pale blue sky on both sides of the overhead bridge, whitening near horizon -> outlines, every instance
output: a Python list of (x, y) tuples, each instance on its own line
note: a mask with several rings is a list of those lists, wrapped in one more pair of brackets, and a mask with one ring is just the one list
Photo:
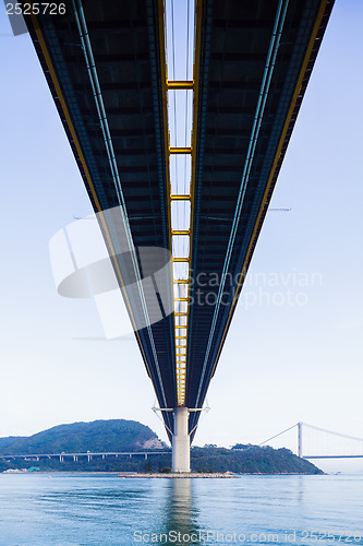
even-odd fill
[[(136, 343), (76, 340), (101, 335), (95, 306), (56, 293), (49, 239), (92, 210), (29, 37), (0, 9), (0, 436), (132, 418), (166, 439)], [(298, 420), (363, 437), (362, 21), (361, 0), (337, 0), (271, 204), (291, 212), (267, 215), (197, 444)]]

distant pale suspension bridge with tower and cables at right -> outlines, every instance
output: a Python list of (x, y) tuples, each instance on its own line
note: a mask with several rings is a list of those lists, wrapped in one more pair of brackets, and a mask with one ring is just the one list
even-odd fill
[(363, 438), (302, 422), (267, 438), (259, 446), (293, 430), (297, 432), (297, 453), (302, 459), (363, 459)]

